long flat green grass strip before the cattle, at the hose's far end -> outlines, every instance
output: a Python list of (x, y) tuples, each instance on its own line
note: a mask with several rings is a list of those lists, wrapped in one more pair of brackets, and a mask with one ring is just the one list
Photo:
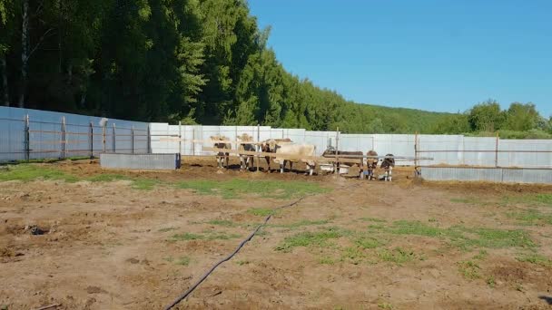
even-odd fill
[(179, 189), (192, 189), (202, 195), (219, 195), (224, 199), (236, 199), (249, 194), (263, 198), (291, 199), (330, 190), (314, 182), (248, 179), (188, 180), (179, 182), (176, 186)]

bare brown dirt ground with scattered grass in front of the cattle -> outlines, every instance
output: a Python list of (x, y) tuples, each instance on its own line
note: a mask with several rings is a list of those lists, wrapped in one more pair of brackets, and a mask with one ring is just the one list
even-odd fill
[[(113, 173), (89, 160), (46, 165), (83, 178)], [(0, 309), (163, 308), (231, 253), (266, 209), (299, 198), (170, 186), (232, 179), (327, 190), (274, 213), (176, 308), (552, 305), (550, 187), (431, 184), (408, 168), (383, 182), (264, 168), (218, 173), (215, 165), (186, 158), (178, 171), (116, 171), (159, 180), (153, 189), (126, 179), (0, 182)], [(34, 235), (34, 226), (42, 231)]]

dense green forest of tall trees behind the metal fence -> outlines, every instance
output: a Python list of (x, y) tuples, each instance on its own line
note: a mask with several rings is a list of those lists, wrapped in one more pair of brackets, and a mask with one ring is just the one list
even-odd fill
[[(286, 72), (244, 0), (0, 0), (0, 105), (135, 121), (551, 138), (531, 102), (439, 113)], [(475, 103), (475, 102), (474, 102)]]

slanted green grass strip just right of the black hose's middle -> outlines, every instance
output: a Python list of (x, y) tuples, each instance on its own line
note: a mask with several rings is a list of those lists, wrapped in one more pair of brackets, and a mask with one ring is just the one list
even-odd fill
[(315, 232), (303, 231), (291, 237), (285, 237), (276, 250), (291, 252), (294, 247), (330, 247), (331, 239), (345, 235), (346, 233), (338, 228), (326, 228)]

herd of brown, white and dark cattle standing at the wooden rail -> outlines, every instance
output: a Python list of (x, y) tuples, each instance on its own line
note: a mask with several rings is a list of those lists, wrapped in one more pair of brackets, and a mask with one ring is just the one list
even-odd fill
[[(230, 139), (224, 136), (212, 136), (211, 140), (214, 142), (214, 148), (223, 150), (232, 150), (232, 142)], [(238, 155), (240, 156), (240, 169), (249, 170), (253, 168), (253, 159), (255, 155), (251, 153), (241, 153), (242, 151), (256, 151), (256, 145), (261, 146), (263, 153), (274, 153), (274, 156), (265, 156), (265, 160), (268, 166), (268, 171), (271, 171), (271, 158), (277, 164), (280, 164), (280, 171), (283, 173), (287, 163), (290, 163), (290, 170), (293, 169), (293, 163), (303, 162), (306, 165), (306, 173), (312, 175), (316, 168), (316, 161), (313, 160), (316, 157), (316, 146), (312, 144), (298, 144), (286, 139), (269, 139), (263, 140), (260, 143), (253, 141), (252, 137), (244, 133), (237, 138), (238, 140)], [(228, 141), (228, 142), (227, 142)], [(248, 143), (250, 142), (250, 143)], [(281, 154), (281, 157), (278, 156)], [(384, 174), (380, 179), (391, 180), (391, 173), (395, 167), (395, 160), (393, 154), (386, 154), (385, 157), (379, 160), (378, 153), (374, 150), (369, 150), (366, 156), (363, 156), (362, 151), (342, 151), (334, 150), (331, 147), (322, 153), (323, 158), (337, 160), (335, 162), (335, 169), (339, 170), (340, 165), (348, 167), (356, 166), (360, 170), (360, 179), (376, 179), (374, 171), (378, 168), (378, 163), (381, 162), (380, 168), (384, 171)], [(219, 168), (229, 167), (230, 153), (225, 151), (219, 151), (216, 155)], [(366, 160), (364, 160), (366, 158)]]

